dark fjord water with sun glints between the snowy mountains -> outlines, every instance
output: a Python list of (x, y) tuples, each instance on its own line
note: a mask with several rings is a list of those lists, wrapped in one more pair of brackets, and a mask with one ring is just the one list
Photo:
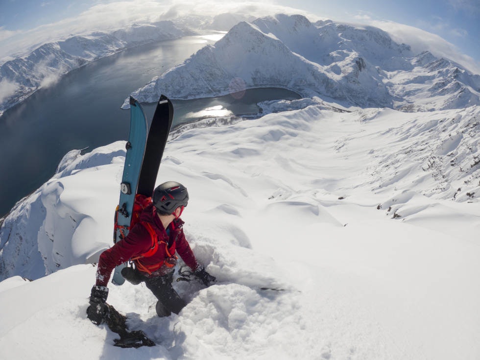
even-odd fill
[[(0, 117), (0, 216), (47, 181), (68, 151), (126, 140), (130, 112), (120, 105), (130, 92), (218, 38), (190, 36), (124, 50), (70, 72), (6, 111)], [(241, 99), (173, 100), (173, 126), (205, 115), (255, 113), (258, 101), (281, 98), (298, 96), (253, 89)], [(143, 108), (150, 120), (155, 104)]]

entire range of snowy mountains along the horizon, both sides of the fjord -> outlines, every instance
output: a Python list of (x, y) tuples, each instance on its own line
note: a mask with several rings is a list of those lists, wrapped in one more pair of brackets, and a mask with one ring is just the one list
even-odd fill
[(140, 101), (154, 102), (160, 94), (186, 99), (282, 87), (346, 107), (410, 112), (480, 103), (480, 75), (428, 51), (413, 53), (379, 28), (311, 23), (301, 15), (276, 15), (251, 23), (241, 19), (224, 14), (202, 24), (189, 18), (132, 25), (42, 45), (1, 65), (0, 116), (37, 89), (88, 62), (125, 48), (192, 35), (189, 24), (204, 29), (236, 25), (215, 46), (202, 48), (135, 91)]

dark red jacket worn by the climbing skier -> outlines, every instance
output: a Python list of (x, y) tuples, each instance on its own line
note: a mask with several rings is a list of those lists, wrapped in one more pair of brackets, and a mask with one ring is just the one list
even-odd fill
[[(149, 205), (140, 216), (140, 221), (132, 228), (126, 238), (118, 241), (100, 255), (98, 268), (96, 270), (96, 285), (107, 286), (115, 266), (125, 263), (129, 259), (141, 256), (150, 250), (152, 247), (152, 237), (142, 222), (151, 225), (151, 228), (157, 235), (159, 244), (157, 251), (152, 256), (137, 260), (141, 265), (147, 268), (150, 266), (155, 267), (155, 265), (159, 267), (159, 265), (164, 264), (165, 261), (170, 258), (168, 253), (174, 256), (175, 251), (177, 251), (185, 264), (193, 271), (196, 270), (198, 263), (187, 239), (185, 239), (182, 229), (184, 222), (181, 219), (173, 220), (168, 225), (170, 235), (167, 235), (167, 231), (156, 215), (153, 205)], [(163, 242), (160, 243), (161, 241)], [(141, 267), (137, 266), (137, 268), (141, 270)], [(147, 274), (145, 273), (145, 275)]]

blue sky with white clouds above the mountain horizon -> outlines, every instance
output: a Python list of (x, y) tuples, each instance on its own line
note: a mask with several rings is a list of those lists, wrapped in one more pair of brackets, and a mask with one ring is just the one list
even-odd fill
[[(212, 1), (204, 0), (202, 3)], [(409, 25), (436, 34), (455, 45), (456, 48), (451, 47), (446, 52), (466, 54), (471, 57), (466, 61), (473, 59), (476, 72), (480, 69), (480, 0), (269, 0), (220, 3), (221, 6), (210, 8), (222, 12), (229, 8), (238, 9), (239, 6), (253, 9), (257, 6), (265, 11), (268, 8), (281, 11), (285, 6), (303, 10), (306, 15), (310, 13), (318, 18), (373, 24), (387, 31), (397, 31), (398, 34), (405, 34), (408, 29), (401, 28), (399, 24)], [(19, 45), (27, 40), (31, 44), (41, 42), (42, 31), (47, 35), (60, 28), (73, 33), (85, 30), (88, 26), (94, 30), (101, 23), (113, 23), (124, 17), (131, 20), (136, 13), (139, 17), (148, 16), (148, 13), (158, 16), (174, 6), (175, 11), (181, 11), (179, 9), (192, 10), (199, 5), (198, 1), (193, 0), (0, 0), (0, 47), (4, 45), (7, 49), (6, 40), (9, 39), (12, 40), (11, 44), (15, 40)], [(79, 14), (83, 16), (79, 17)], [(415, 42), (426, 36), (429, 38), (425, 33), (410, 31), (407, 38)], [(432, 38), (432, 42), (435, 40)], [(2, 44), (2, 41), (5, 43)], [(442, 46), (448, 47), (445, 44)], [(0, 53), (0, 58), (4, 55)]]

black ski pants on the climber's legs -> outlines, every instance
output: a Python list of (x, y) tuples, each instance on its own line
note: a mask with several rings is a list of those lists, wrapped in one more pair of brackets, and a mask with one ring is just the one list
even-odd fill
[(178, 314), (187, 305), (172, 286), (173, 271), (164, 276), (145, 278), (144, 281), (146, 287), (158, 299), (156, 306), (158, 316), (169, 316), (172, 312)]

